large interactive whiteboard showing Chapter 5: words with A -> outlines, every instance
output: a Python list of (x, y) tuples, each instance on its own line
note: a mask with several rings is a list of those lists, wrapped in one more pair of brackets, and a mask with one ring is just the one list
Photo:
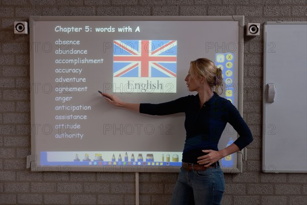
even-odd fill
[[(190, 61), (223, 69), (222, 96), (242, 113), (243, 16), (32, 16), (32, 171), (178, 172), (184, 113), (150, 116), (112, 107), (98, 90), (130, 103), (189, 94)], [(219, 149), (236, 132), (227, 125)], [(221, 160), (242, 171), (242, 156)]]

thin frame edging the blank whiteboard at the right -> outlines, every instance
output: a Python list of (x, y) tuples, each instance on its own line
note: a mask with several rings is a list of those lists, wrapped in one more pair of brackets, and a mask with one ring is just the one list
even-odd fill
[[(263, 86), (262, 86), (262, 124), (264, 127), (262, 128), (262, 172), (264, 173), (307, 173), (307, 170), (299, 171), (299, 170), (280, 170), (276, 169), (274, 165), (266, 165), (266, 104), (267, 103), (267, 91), (266, 91), (266, 84), (267, 82), (267, 75), (266, 71), (268, 69), (267, 65), (267, 52), (268, 52), (268, 42), (267, 42), (267, 25), (306, 25), (307, 22), (266, 22), (264, 24), (264, 71), (263, 71)], [(287, 81), (289, 83), (289, 81)], [(307, 147), (306, 147), (307, 149)], [(287, 152), (287, 150), (286, 150)], [(306, 156), (307, 157), (307, 156)], [(301, 160), (301, 159), (300, 159)]]

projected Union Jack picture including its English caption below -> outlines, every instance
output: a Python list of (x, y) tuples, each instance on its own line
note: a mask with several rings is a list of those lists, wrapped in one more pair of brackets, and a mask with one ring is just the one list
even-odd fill
[(176, 93), (177, 40), (113, 43), (114, 93)]

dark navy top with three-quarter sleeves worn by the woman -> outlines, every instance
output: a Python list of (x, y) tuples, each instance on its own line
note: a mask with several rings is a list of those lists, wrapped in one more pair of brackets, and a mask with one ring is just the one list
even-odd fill
[(185, 113), (186, 140), (182, 161), (197, 163), (198, 157), (203, 156), (202, 150), (217, 149), (218, 140), (227, 122), (237, 131), (238, 137), (234, 144), (240, 150), (253, 141), (252, 133), (246, 122), (232, 103), (218, 96), (215, 92), (202, 108), (199, 95), (188, 95), (161, 104), (140, 104), (140, 113), (150, 115), (168, 115)]

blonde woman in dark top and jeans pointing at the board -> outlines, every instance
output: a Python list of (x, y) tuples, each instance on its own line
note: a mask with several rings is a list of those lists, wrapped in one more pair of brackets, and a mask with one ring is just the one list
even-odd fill
[[(161, 104), (131, 104), (115, 95), (102, 95), (114, 106), (140, 113), (168, 115), (184, 112), (186, 140), (182, 167), (170, 203), (221, 204), (225, 180), (218, 160), (242, 150), (253, 137), (237, 109), (217, 94), (218, 87), (223, 84), (222, 70), (211, 60), (199, 58), (191, 61), (185, 81), (188, 90), (198, 94)], [(240, 137), (227, 148), (218, 150), (218, 141), (227, 122)]]

